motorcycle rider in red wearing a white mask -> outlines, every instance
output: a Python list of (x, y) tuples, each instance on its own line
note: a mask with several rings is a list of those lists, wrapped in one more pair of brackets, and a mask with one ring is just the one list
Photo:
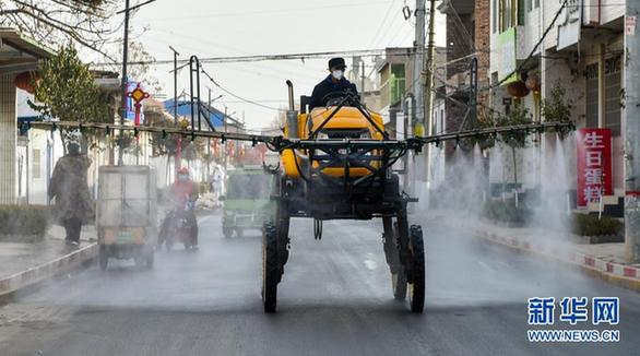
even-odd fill
[[(173, 203), (175, 205), (175, 214), (167, 215), (165, 222), (163, 222), (163, 228), (161, 230), (166, 230), (164, 227), (168, 223), (169, 218), (183, 214), (182, 216), (187, 218), (187, 224), (189, 226), (189, 236), (191, 236), (193, 241), (193, 249), (198, 249), (198, 221), (195, 219), (194, 212), (194, 204), (197, 200), (198, 186), (193, 180), (191, 180), (189, 168), (182, 167), (178, 170), (178, 179), (173, 187)], [(162, 246), (166, 239), (166, 236), (163, 235), (164, 234), (161, 233), (158, 246)]]

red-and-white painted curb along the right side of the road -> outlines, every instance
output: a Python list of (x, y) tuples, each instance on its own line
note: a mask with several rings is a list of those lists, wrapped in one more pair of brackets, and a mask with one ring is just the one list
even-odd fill
[(640, 292), (640, 269), (638, 268), (609, 262), (591, 254), (576, 251), (562, 251), (548, 245), (535, 246), (534, 249), (530, 241), (499, 236), (485, 230), (476, 230), (475, 236), (521, 252), (579, 266), (593, 277), (619, 285), (627, 289)]

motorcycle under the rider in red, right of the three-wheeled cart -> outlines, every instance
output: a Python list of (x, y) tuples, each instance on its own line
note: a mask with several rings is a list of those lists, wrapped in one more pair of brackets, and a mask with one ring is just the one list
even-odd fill
[(158, 249), (164, 244), (167, 250), (171, 250), (177, 242), (181, 242), (187, 250), (198, 248), (193, 209), (194, 203), (188, 202), (183, 209), (174, 209), (167, 213), (159, 228)]

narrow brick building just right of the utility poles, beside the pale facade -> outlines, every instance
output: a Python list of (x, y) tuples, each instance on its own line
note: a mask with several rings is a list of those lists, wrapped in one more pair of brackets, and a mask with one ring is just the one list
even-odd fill
[[(434, 73), (436, 134), (470, 130), (475, 126), (477, 111), (489, 103), (488, 92), (483, 90), (488, 85), (490, 69), (489, 5), (489, 0), (446, 0), (438, 5), (438, 11), (447, 16), (447, 47), (442, 49), (442, 64), (436, 66)], [(472, 67), (476, 73), (473, 79)], [(472, 96), (478, 103), (475, 111), (471, 110)], [(446, 142), (432, 149), (429, 180), (435, 189), (459, 178), (454, 167), (457, 146), (457, 142)], [(471, 153), (471, 147), (463, 149)]]

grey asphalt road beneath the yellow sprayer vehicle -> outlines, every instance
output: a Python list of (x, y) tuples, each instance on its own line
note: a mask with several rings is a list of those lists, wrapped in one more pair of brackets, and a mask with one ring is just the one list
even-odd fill
[[(278, 312), (264, 315), (259, 233), (225, 239), (220, 216), (208, 216), (198, 252), (161, 252), (152, 271), (94, 266), (0, 308), (0, 355), (640, 353), (638, 294), (484, 245), (438, 218), (422, 223), (424, 315), (392, 298), (380, 222), (328, 222), (316, 241), (310, 221), (294, 221)], [(530, 343), (526, 299), (536, 296), (620, 297), (621, 342)]]

